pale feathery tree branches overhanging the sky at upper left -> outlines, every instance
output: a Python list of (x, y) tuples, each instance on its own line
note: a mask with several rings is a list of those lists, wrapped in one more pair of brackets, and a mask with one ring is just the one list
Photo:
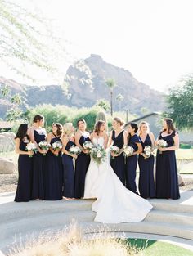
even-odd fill
[(38, 12), (25, 2), (0, 0), (0, 61), (30, 80), (35, 80), (36, 70), (57, 78), (59, 70), (64, 70), (66, 42), (56, 36), (50, 20)]

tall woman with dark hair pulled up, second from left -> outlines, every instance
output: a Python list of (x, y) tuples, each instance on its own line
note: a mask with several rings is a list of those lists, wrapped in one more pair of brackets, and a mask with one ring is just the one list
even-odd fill
[(32, 199), (43, 200), (44, 199), (44, 187), (43, 187), (43, 168), (45, 162), (45, 156), (47, 150), (41, 150), (38, 146), (40, 141), (44, 141), (47, 137), (47, 132), (43, 128), (44, 117), (43, 115), (35, 115), (33, 120), (34, 125), (29, 130), (29, 138), (35, 146), (38, 148), (38, 152), (33, 157), (33, 185), (32, 185)]

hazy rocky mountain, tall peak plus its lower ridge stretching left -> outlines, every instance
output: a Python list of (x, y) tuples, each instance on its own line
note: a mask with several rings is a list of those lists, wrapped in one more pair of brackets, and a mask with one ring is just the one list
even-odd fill
[[(85, 60), (79, 60), (70, 65), (65, 74), (65, 83), (68, 83), (66, 96), (61, 85), (29, 86), (16, 83), (11, 79), (0, 77), (0, 85), (7, 84), (11, 93), (24, 94), (29, 106), (43, 103), (52, 105), (64, 104), (67, 106), (93, 106), (101, 98), (110, 100), (109, 88), (106, 79), (114, 79), (114, 110), (119, 110), (120, 104), (116, 100), (119, 93), (123, 95), (121, 109), (140, 114), (141, 108), (150, 111), (164, 110), (164, 94), (151, 89), (145, 83), (135, 79), (131, 72), (105, 62), (101, 56), (92, 54)], [(5, 114), (5, 100), (0, 97), (0, 117)]]

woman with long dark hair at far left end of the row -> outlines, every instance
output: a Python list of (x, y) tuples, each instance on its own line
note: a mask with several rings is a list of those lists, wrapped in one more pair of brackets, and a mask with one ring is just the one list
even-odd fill
[(32, 186), (32, 158), (33, 151), (27, 151), (26, 146), (29, 143), (29, 136), (27, 134), (28, 124), (20, 124), (16, 133), (16, 153), (18, 158), (18, 184), (16, 189), (16, 202), (28, 202), (31, 200), (31, 186)]

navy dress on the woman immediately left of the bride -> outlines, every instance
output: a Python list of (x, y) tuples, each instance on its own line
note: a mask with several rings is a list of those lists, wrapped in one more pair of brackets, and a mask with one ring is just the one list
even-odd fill
[[(89, 137), (84, 137), (83, 135), (79, 139), (79, 144), (83, 146), (85, 141), (90, 141)], [(88, 166), (90, 164), (90, 156), (80, 153), (78, 158), (76, 159), (75, 164), (75, 185), (74, 185), (74, 197), (81, 198), (84, 194), (84, 183), (85, 177), (88, 170)]]

